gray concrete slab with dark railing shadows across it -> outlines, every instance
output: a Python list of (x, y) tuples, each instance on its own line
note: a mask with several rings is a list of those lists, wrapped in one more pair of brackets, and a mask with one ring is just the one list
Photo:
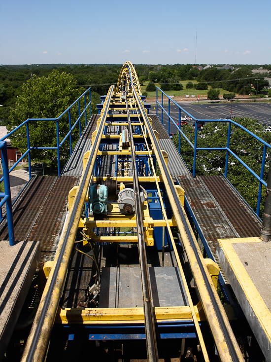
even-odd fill
[(0, 241), (0, 361), (17, 323), (40, 259), (39, 242)]

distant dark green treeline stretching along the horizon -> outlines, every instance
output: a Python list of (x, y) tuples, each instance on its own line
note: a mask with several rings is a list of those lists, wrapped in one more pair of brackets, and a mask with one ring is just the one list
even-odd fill
[[(205, 65), (201, 65), (204, 67)], [(251, 84), (258, 87), (258, 92), (264, 88), (267, 81), (265, 76), (271, 77), (271, 65), (262, 65), (266, 74), (253, 74), (252, 69), (259, 65), (233, 65), (235, 69), (217, 69), (215, 66), (200, 70), (192, 64), (175, 65), (136, 65), (135, 70), (139, 82), (149, 81), (154, 86), (158, 83), (164, 91), (180, 90), (183, 88), (180, 81), (189, 80), (190, 87), (196, 89), (222, 88), (229, 92), (249, 94), (254, 92)], [(40, 65), (14, 65), (0, 66), (0, 120), (2, 125), (8, 124), (10, 110), (14, 108), (16, 98), (22, 92), (22, 85), (28, 79), (36, 76), (48, 76), (54, 69), (59, 72), (72, 74), (76, 86), (83, 89), (91, 86), (92, 101), (95, 105), (100, 102), (100, 96), (107, 93), (111, 84), (116, 84), (122, 68), (121, 64), (113, 65), (66, 65), (66, 64), (40, 64)], [(258, 79), (257, 79), (258, 78)], [(196, 83), (193, 83), (196, 81)], [(152, 84), (153, 83), (153, 84)], [(191, 86), (192, 84), (192, 86)], [(150, 87), (151, 87), (150, 85)], [(150, 90), (151, 91), (151, 90)]]

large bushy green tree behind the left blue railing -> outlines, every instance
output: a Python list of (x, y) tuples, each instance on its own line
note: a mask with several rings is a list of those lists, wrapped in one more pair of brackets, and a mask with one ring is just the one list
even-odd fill
[[(23, 85), (22, 94), (17, 98), (15, 108), (10, 114), (10, 131), (20, 125), (28, 118), (56, 118), (67, 109), (82, 93), (75, 88), (75, 80), (71, 74), (59, 73), (54, 70), (47, 77), (37, 77), (29, 79)], [(83, 109), (83, 101), (81, 105)], [(74, 123), (78, 117), (78, 109), (71, 110), (71, 119)], [(34, 147), (55, 147), (57, 145), (57, 132), (55, 121), (31, 121), (29, 123), (31, 145)], [(68, 114), (59, 121), (59, 134), (62, 140), (68, 133)], [(78, 131), (78, 128), (77, 128)], [(73, 134), (76, 134), (74, 129)], [(27, 150), (26, 126), (21, 127), (11, 137), (14, 147), (24, 153)], [(74, 143), (76, 142), (73, 137)], [(68, 157), (68, 146), (61, 150), (62, 161)], [(48, 165), (56, 165), (56, 150), (33, 150), (31, 152), (33, 160), (46, 162)]]

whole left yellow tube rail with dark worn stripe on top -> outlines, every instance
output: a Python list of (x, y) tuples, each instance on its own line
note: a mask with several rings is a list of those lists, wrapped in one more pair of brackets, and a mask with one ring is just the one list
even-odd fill
[(102, 131), (108, 114), (109, 103), (113, 90), (114, 86), (111, 86), (107, 94), (107, 102), (105, 102), (105, 107), (102, 109), (103, 114), (99, 130), (88, 157), (87, 165), (80, 179), (74, 202), (68, 216), (67, 225), (64, 229), (58, 250), (56, 252), (54, 265), (41, 296), (33, 326), (31, 328), (30, 335), (28, 337), (22, 356), (22, 362), (42, 362), (45, 356), (50, 333), (59, 305), (59, 300), (64, 288), (68, 271), (69, 258), (74, 245), (74, 239), (85, 203), (86, 194), (91, 181), (99, 145), (101, 143)]

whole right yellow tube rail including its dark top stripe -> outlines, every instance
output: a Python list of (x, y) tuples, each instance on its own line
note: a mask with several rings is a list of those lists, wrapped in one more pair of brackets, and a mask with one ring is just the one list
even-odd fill
[(155, 134), (150, 126), (150, 122), (139, 100), (135, 87), (133, 86), (132, 88), (141, 115), (144, 119), (149, 138), (154, 145), (155, 156), (166, 187), (173, 215), (176, 219), (177, 227), (187, 253), (192, 273), (201, 296), (203, 309), (212, 331), (220, 359), (222, 362), (244, 361), (225, 310), (212, 284), (207, 267), (203, 265), (202, 253), (195, 237), (193, 236), (192, 228), (189, 225), (184, 208), (176, 193), (168, 167), (158, 145), (158, 141), (156, 140)]

